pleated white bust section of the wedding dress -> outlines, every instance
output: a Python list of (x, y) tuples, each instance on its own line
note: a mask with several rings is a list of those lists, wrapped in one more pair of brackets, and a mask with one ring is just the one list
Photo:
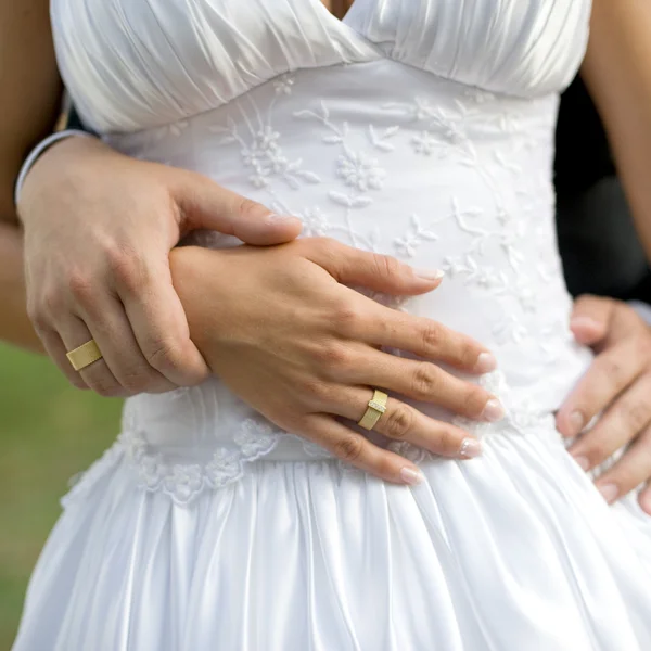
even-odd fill
[(493, 92), (569, 84), (590, 0), (52, 0), (59, 63), (85, 122), (135, 131), (209, 111), (302, 68), (388, 58)]

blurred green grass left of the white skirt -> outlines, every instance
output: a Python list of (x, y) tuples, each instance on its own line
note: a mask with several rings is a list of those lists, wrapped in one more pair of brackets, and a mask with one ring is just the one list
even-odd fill
[(46, 358), (0, 344), (0, 649), (68, 480), (111, 445), (122, 403), (71, 387)]

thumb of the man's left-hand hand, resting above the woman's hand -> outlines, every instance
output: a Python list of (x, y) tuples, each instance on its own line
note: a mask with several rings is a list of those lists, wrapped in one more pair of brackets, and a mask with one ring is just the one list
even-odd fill
[(276, 215), (200, 174), (175, 173), (170, 188), (186, 232), (214, 230), (258, 246), (283, 244), (301, 234), (303, 225), (297, 217)]

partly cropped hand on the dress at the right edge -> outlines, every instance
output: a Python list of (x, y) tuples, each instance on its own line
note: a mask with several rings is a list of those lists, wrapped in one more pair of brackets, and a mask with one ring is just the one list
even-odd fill
[(646, 483), (639, 503), (651, 514), (651, 328), (625, 303), (596, 296), (576, 301), (571, 328), (597, 357), (559, 410), (559, 432), (576, 436), (601, 413), (570, 452), (587, 471), (629, 446), (596, 484), (612, 503)]

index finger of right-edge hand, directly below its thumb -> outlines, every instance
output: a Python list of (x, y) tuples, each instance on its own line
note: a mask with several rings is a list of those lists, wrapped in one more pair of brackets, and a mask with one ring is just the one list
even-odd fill
[(557, 427), (576, 436), (644, 370), (644, 358), (633, 339), (609, 348), (595, 361), (557, 413)]

